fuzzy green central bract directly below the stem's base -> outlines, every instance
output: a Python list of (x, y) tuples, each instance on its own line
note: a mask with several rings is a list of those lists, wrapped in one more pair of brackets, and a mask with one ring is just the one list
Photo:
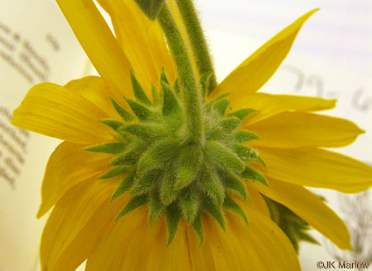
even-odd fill
[(198, 145), (184, 146), (179, 150), (174, 189), (181, 189), (192, 182), (203, 161), (203, 152)]

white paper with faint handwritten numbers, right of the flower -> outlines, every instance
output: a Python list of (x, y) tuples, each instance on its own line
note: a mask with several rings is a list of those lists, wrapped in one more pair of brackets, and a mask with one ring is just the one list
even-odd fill
[[(320, 114), (348, 118), (366, 133), (359, 136), (352, 145), (333, 150), (372, 165), (371, 1), (197, 2), (219, 81), (295, 19), (312, 9), (320, 8), (305, 22), (283, 65), (260, 92), (337, 99), (336, 109)], [(346, 223), (355, 223), (342, 212), (338, 200), (340, 193), (327, 189), (312, 191), (324, 195), (327, 204)], [(363, 207), (368, 210), (368, 206)], [(371, 204), (369, 212), (372, 214)], [(335, 260), (334, 254), (327, 249), (329, 242), (320, 233), (311, 233), (322, 243), (322, 247), (301, 243), (300, 262), (303, 270), (318, 270), (318, 261)], [(339, 251), (339, 255), (342, 253), (352, 259), (350, 253)]]

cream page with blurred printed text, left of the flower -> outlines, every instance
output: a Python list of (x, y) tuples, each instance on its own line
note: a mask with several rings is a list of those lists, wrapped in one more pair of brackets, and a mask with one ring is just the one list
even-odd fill
[(55, 1), (0, 1), (0, 270), (38, 268), (45, 218), (36, 219), (47, 158), (59, 140), (11, 126), (38, 82), (81, 77), (87, 57)]

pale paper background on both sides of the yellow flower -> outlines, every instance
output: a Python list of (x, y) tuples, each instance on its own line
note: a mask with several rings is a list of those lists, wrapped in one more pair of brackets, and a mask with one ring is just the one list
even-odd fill
[[(353, 145), (336, 151), (372, 164), (371, 1), (199, 0), (196, 4), (219, 82), (278, 31), (303, 13), (320, 8), (301, 29), (283, 65), (260, 91), (338, 99), (337, 109), (322, 114), (349, 118), (366, 133)], [(0, 2), (2, 127), (9, 125), (4, 112), (13, 111), (33, 84), (64, 84), (91, 73), (93, 68), (54, 1)], [(6, 139), (9, 134), (0, 129), (0, 136)], [(9, 150), (4, 140), (1, 142), (0, 271), (38, 270), (38, 240), (45, 218), (38, 221), (35, 214), (43, 169), (58, 141), (30, 133), (23, 153), (25, 162), (19, 165), (18, 173), (6, 167)], [(12, 179), (6, 179), (4, 172), (13, 174)], [(320, 233), (311, 231), (322, 247), (300, 245), (303, 270), (318, 270), (318, 261), (372, 262), (372, 192), (342, 195), (326, 189), (312, 191), (326, 197), (327, 204), (346, 221), (355, 251), (340, 251)]]

